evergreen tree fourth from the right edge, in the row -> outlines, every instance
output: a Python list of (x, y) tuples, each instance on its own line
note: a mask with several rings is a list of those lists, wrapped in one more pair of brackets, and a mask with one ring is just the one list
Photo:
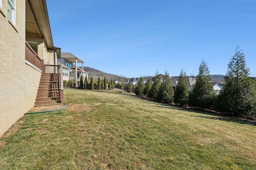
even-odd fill
[(171, 84), (171, 79), (168, 71), (166, 70), (163, 76), (163, 82), (160, 85), (159, 92), (157, 95), (158, 101), (163, 101), (166, 103), (173, 102), (174, 89)]

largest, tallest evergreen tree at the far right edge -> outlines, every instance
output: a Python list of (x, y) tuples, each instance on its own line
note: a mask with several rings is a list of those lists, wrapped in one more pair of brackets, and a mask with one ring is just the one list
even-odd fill
[(253, 117), (256, 116), (255, 82), (249, 77), (245, 55), (239, 48), (236, 47), (228, 64), (225, 84), (217, 97), (216, 110), (227, 115)]

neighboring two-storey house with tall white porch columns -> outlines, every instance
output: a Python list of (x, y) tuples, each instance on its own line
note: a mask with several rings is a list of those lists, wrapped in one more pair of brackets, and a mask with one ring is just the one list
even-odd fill
[[(72, 53), (61, 53), (61, 57), (58, 59), (58, 62), (63, 64), (66, 67), (65, 69), (62, 70), (63, 72), (67, 72), (68, 74), (68, 77), (65, 74), (66, 75), (66, 77), (64, 78), (65, 80), (72, 80), (76, 83), (76, 82), (80, 82), (81, 76), (83, 76), (83, 78), (87, 76), (87, 80), (88, 80), (89, 73), (84, 70), (84, 66), (83, 66), (84, 62), (80, 60), (78, 57), (76, 57), (75, 55), (73, 55)], [(77, 63), (81, 63), (82, 68), (78, 67)], [(76, 86), (78, 86), (77, 83), (76, 83)]]

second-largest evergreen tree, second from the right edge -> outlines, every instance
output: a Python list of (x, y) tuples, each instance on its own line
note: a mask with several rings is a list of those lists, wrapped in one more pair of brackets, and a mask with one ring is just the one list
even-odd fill
[(210, 72), (203, 60), (199, 66), (196, 83), (188, 97), (188, 106), (198, 109), (213, 109), (216, 94), (210, 81)]

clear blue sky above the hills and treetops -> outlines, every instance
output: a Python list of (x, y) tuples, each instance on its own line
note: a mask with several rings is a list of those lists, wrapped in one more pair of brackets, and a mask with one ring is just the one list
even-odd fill
[(256, 76), (256, 0), (46, 0), (54, 45), (128, 78), (223, 74), (240, 46)]

